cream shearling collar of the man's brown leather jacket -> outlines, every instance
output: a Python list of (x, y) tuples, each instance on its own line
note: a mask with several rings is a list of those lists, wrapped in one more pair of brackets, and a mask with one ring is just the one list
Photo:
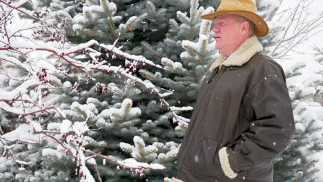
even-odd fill
[(215, 60), (210, 68), (210, 71), (217, 68), (219, 65), (225, 65), (225, 66), (242, 66), (246, 62), (253, 57), (257, 52), (262, 51), (264, 48), (262, 47), (262, 44), (258, 41), (257, 37), (254, 35), (253, 37), (250, 37), (249, 39), (246, 39), (240, 47), (231, 54), (230, 57), (228, 57), (224, 61), (224, 57), (220, 54), (219, 57), (217, 57), (217, 60)]

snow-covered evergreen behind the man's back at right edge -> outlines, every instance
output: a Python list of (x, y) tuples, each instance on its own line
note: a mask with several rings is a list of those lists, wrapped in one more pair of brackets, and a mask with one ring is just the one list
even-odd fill
[(299, 61), (286, 69), (288, 90), (293, 101), (296, 131), (291, 145), (275, 163), (276, 181), (321, 181), (316, 154), (322, 152), (322, 118), (315, 108), (322, 106), (313, 102), (322, 94), (322, 65), (314, 72), (306, 70), (311, 63)]

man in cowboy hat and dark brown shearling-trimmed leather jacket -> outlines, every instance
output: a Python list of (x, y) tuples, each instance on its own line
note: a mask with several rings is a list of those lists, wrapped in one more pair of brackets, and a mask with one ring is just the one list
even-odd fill
[(222, 0), (215, 21), (220, 56), (199, 90), (178, 153), (177, 179), (272, 182), (273, 161), (295, 125), (280, 65), (260, 54), (268, 34), (252, 0)]

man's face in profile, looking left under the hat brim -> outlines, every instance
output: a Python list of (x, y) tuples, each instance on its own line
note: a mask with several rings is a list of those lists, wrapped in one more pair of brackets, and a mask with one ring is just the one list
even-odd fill
[(230, 56), (239, 48), (239, 39), (241, 38), (241, 23), (238, 23), (232, 14), (222, 14), (215, 17), (213, 32), (215, 32), (215, 48), (221, 52), (224, 57)]

